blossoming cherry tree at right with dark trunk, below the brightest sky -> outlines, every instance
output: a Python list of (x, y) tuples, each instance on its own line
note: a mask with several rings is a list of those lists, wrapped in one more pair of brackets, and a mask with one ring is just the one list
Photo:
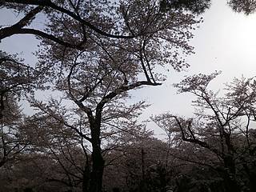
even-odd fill
[[(208, 89), (210, 81), (218, 74), (198, 74), (174, 85), (179, 93), (188, 92), (197, 97), (193, 102), (198, 109), (194, 118), (162, 114), (155, 117), (154, 121), (176, 133), (176, 138), (197, 147), (197, 154), (202, 153), (204, 157), (188, 157), (187, 160), (217, 171), (226, 191), (241, 191), (247, 186), (250, 186), (250, 191), (254, 191), (252, 175), (255, 173), (249, 167), (255, 163), (255, 158), (251, 156), (255, 149), (252, 129), (255, 121), (255, 80), (236, 78), (226, 86), (226, 95), (218, 97), (218, 94)], [(209, 152), (209, 158), (206, 158), (204, 150)]]

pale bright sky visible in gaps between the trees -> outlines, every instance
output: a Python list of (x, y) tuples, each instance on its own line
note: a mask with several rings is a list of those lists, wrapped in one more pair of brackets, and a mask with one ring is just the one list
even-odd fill
[[(169, 110), (174, 114), (192, 114), (191, 95), (177, 95), (171, 86), (184, 75), (209, 74), (214, 70), (222, 70), (222, 74), (211, 84), (214, 90), (222, 89), (223, 83), (230, 82), (234, 77), (240, 78), (244, 75), (249, 78), (256, 75), (256, 14), (246, 16), (234, 13), (226, 6), (226, 1), (216, 0), (202, 17), (204, 22), (195, 31), (191, 41), (195, 54), (187, 58), (190, 63), (187, 72), (170, 71), (162, 86), (132, 91), (134, 101), (144, 99), (152, 104), (144, 111), (142, 118)], [(16, 19), (14, 13), (0, 11), (0, 25), (14, 23)], [(33, 36), (15, 35), (2, 40), (0, 49), (10, 53), (22, 53), (22, 58), (33, 64), (36, 58), (31, 53), (37, 44), (38, 41), (34, 41)], [(157, 130), (156, 133), (160, 132)]]

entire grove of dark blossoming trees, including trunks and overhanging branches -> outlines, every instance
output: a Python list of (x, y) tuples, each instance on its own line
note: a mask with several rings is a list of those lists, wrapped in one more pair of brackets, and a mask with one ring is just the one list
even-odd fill
[[(196, 110), (151, 118), (166, 141), (139, 119), (149, 104), (129, 100), (131, 90), (161, 86), (165, 70), (190, 66), (190, 39), (210, 0), (0, 3), (20, 15), (1, 26), (0, 40), (33, 34), (40, 42), (33, 66), (0, 51), (3, 190), (256, 190), (254, 78), (235, 78), (223, 96), (209, 89), (218, 71), (174, 84), (196, 97)], [(254, 13), (254, 1), (227, 4)], [(21, 100), (33, 114), (22, 113)]]

